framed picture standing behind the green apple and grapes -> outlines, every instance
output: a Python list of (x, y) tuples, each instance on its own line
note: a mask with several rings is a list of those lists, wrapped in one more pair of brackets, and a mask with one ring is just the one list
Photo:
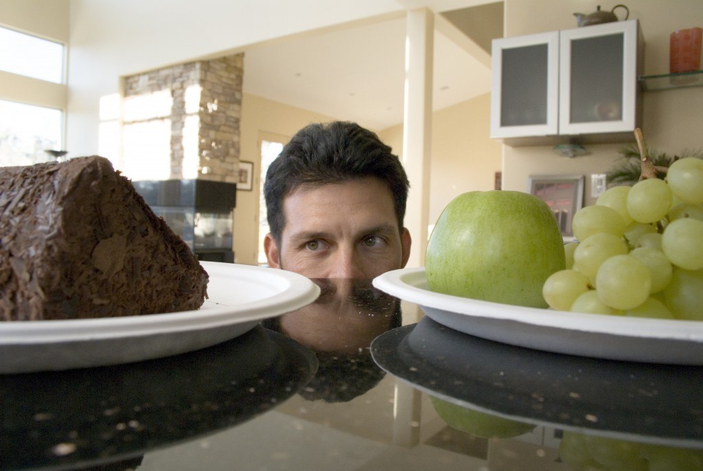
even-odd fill
[(529, 192), (552, 209), (564, 240), (573, 240), (572, 219), (583, 207), (583, 175), (530, 175)]

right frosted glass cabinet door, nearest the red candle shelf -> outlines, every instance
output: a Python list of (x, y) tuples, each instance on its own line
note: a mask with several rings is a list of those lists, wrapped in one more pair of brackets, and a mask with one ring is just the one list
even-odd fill
[(560, 32), (560, 134), (636, 127), (637, 20)]

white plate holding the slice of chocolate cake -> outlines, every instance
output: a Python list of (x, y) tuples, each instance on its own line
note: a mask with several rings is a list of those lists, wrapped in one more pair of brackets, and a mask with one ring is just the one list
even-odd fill
[(106, 366), (210, 347), (320, 294), (318, 285), (290, 271), (201, 264), (209, 299), (196, 311), (0, 323), (0, 373)]

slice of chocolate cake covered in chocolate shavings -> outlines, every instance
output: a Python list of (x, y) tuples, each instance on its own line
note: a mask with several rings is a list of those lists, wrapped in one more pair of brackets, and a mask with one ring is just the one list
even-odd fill
[(0, 320), (198, 309), (207, 279), (109, 160), (0, 168)]

